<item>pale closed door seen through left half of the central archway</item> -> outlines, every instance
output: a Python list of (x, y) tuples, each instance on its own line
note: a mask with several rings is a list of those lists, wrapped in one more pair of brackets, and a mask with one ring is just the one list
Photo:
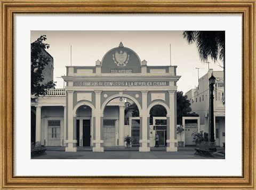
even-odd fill
[(115, 120), (105, 119), (103, 120), (103, 146), (111, 147), (115, 146), (116, 142), (115, 134)]

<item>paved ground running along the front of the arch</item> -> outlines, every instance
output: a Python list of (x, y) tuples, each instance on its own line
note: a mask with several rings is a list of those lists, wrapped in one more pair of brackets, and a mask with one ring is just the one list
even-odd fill
[(166, 152), (165, 147), (152, 147), (150, 152), (139, 152), (139, 148), (105, 148), (105, 152), (92, 152), (91, 148), (78, 148), (77, 152), (65, 152), (60, 148), (47, 149), (47, 155), (33, 159), (225, 159), (218, 153), (223, 151), (219, 147), (214, 158), (195, 155), (194, 147), (179, 148), (178, 152)]

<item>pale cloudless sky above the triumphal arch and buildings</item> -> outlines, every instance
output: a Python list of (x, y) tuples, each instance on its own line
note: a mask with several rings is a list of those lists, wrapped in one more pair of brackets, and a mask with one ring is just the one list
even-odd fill
[(120, 42), (137, 53), (141, 61), (146, 60), (147, 65), (177, 65), (177, 75), (181, 76), (177, 86), (184, 93), (198, 85), (198, 71), (200, 78), (209, 68), (223, 70), (221, 61), (201, 62), (196, 45), (188, 45), (182, 31), (31, 31), (31, 42), (41, 35), (46, 35), (44, 43), (50, 44), (47, 52), (54, 59), (55, 88), (63, 88), (59, 77), (66, 75), (65, 66), (95, 66), (95, 61), (101, 61)]

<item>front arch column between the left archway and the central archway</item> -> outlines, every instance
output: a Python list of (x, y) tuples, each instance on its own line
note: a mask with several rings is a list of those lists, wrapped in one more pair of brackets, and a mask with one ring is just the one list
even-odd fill
[[(103, 129), (103, 115), (100, 114), (101, 109), (101, 92), (102, 90), (94, 90), (95, 93), (95, 139), (93, 141), (93, 152), (103, 152), (103, 138), (101, 139), (101, 128)], [(102, 118), (101, 118), (102, 116)], [(102, 122), (101, 122), (102, 120)]]

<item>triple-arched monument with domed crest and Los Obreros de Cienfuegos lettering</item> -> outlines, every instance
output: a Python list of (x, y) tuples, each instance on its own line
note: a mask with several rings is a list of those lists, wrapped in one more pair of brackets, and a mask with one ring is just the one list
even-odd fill
[[(177, 151), (176, 66), (148, 66), (147, 61), (132, 49), (110, 49), (94, 66), (67, 66), (66, 86), (66, 152), (77, 151), (77, 118), (83, 117), (84, 144), (88, 141), (94, 152), (103, 152), (104, 120), (111, 110), (106, 107), (116, 98), (129, 98), (139, 110), (139, 151), (150, 151), (149, 111), (154, 105), (166, 109), (166, 151)], [(117, 145), (124, 145), (124, 106), (119, 106), (119, 123), (115, 136)], [(86, 111), (87, 110), (87, 111)], [(84, 114), (84, 115), (82, 115)], [(86, 127), (88, 126), (88, 127)], [(87, 139), (86, 139), (87, 137)]]

